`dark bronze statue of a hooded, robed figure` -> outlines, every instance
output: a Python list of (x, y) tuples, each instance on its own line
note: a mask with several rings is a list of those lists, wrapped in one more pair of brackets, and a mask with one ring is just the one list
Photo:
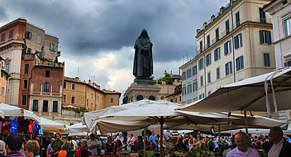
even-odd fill
[(133, 75), (137, 78), (149, 78), (153, 73), (152, 42), (146, 29), (141, 31), (139, 38), (135, 40), (135, 60), (133, 63)]

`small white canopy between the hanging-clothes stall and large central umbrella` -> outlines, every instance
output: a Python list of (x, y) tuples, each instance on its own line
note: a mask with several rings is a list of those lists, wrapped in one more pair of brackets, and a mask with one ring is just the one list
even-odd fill
[(66, 128), (65, 124), (43, 117), (40, 117), (40, 126), (43, 126), (44, 132), (65, 132), (64, 129)]

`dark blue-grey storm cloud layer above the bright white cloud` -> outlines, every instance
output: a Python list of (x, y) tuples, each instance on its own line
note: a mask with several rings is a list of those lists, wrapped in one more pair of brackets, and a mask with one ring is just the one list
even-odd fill
[[(80, 57), (133, 47), (141, 29), (146, 28), (154, 43), (155, 61), (181, 60), (186, 52), (194, 56), (196, 29), (226, 3), (227, 0), (3, 1), (10, 16), (25, 16), (57, 35), (65, 51), (62, 55)], [(7, 20), (1, 6), (0, 14), (0, 21)]]

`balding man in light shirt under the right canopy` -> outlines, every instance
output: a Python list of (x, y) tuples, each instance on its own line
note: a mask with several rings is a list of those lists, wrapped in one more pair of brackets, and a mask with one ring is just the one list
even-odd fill
[(248, 147), (248, 137), (246, 136), (246, 133), (240, 131), (235, 134), (235, 143), (237, 147), (235, 149), (232, 149), (231, 152), (229, 152), (226, 157), (232, 157), (232, 156), (253, 156), (253, 157), (259, 157), (259, 153), (257, 150)]

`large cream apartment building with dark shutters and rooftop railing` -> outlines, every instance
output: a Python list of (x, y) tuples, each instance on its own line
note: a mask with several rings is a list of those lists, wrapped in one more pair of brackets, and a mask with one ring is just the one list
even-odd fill
[(272, 19), (262, 10), (269, 2), (230, 0), (196, 30), (198, 100), (221, 85), (275, 69)]

